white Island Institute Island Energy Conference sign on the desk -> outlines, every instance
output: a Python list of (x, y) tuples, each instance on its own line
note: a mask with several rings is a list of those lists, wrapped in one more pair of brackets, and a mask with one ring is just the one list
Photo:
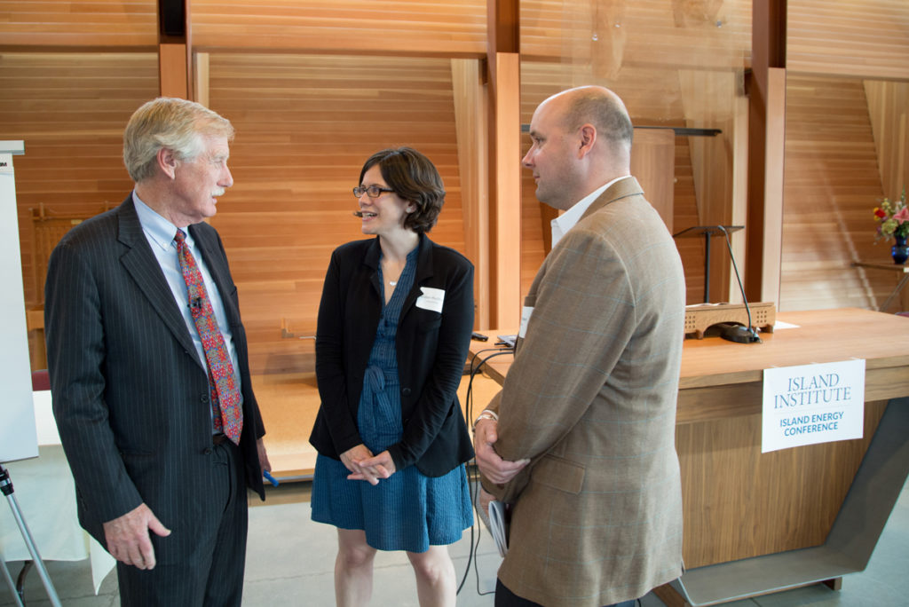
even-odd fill
[(764, 369), (761, 453), (864, 435), (864, 360)]

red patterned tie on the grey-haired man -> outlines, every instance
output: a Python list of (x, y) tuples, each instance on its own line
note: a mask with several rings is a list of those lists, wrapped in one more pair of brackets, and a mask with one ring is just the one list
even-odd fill
[[(208, 387), (211, 392), (212, 417), (215, 432), (223, 432), (233, 443), (240, 443), (243, 430), (243, 409), (240, 406), (240, 389), (234, 376), (234, 365), (227, 354), (225, 338), (218, 329), (212, 303), (205, 291), (202, 273), (195, 264), (193, 254), (186, 246), (186, 234), (177, 230), (176, 253), (183, 270), (186, 291), (189, 294), (189, 309), (193, 314), (195, 328), (202, 338), (202, 349), (208, 362)], [(220, 405), (220, 406), (219, 406)]]

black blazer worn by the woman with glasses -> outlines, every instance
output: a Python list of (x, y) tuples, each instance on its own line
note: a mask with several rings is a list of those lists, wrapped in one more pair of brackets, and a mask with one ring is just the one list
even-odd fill
[[(398, 469), (415, 464), (427, 476), (442, 476), (474, 456), (457, 398), (474, 326), (474, 266), (425, 234), (418, 247), (395, 339), (404, 435), (388, 452)], [(315, 335), (322, 404), (309, 442), (335, 459), (363, 443), (356, 420), (382, 313), (380, 256), (377, 237), (344, 244), (325, 274)], [(417, 305), (421, 287), (445, 291), (441, 313)]]

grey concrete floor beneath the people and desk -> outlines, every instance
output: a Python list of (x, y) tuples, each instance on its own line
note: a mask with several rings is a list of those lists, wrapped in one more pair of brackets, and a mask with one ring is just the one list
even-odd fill
[[(244, 605), (247, 607), (314, 606), (335, 604), (333, 568), (335, 530), (309, 520), (308, 483), (283, 483), (268, 493), (263, 504), (251, 501), (249, 546), (246, 557)], [(261, 504), (261, 505), (259, 505)], [(470, 532), (451, 547), (460, 581), (470, 552)], [(500, 558), (487, 533), (483, 532), (464, 587), (458, 594), (459, 607), (491, 607), (495, 570)], [(114, 607), (117, 597), (115, 573), (107, 577), (95, 596), (88, 562), (46, 562), (56, 592), (66, 607)], [(8, 563), (15, 576), (21, 563)], [(834, 592), (814, 585), (745, 601), (726, 603), (732, 607), (890, 607), (909, 605), (909, 485), (906, 485), (894, 513), (884, 528), (868, 568), (844, 577), (843, 588)], [(0, 582), (0, 605), (13, 605), (14, 598)], [(50, 603), (37, 572), (30, 572), (25, 586), (25, 604), (44, 607)], [(415, 606), (414, 577), (404, 553), (380, 552), (375, 563), (373, 605)], [(642, 607), (661, 607), (652, 594)]]

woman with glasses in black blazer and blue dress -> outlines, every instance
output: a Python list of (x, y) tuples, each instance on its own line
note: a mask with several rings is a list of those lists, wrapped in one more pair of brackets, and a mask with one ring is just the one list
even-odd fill
[(456, 391), (474, 267), (426, 236), (445, 190), (425, 155), (373, 154), (354, 195), (375, 237), (335, 249), (325, 275), (312, 516), (338, 528), (338, 605), (369, 601), (376, 550), (407, 552), (421, 605), (454, 605), (447, 544), (473, 524), (464, 463), (474, 452)]

